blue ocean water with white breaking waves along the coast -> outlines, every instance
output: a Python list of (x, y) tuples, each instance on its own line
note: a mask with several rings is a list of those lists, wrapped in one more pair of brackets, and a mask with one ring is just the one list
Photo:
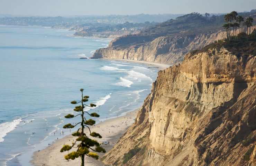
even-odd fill
[(98, 122), (138, 108), (150, 93), (156, 70), (134, 63), (80, 59), (92, 56), (110, 40), (72, 34), (0, 26), (0, 166), (29, 166), (34, 151), (69, 134), (63, 123), (77, 119), (63, 117), (74, 113), (70, 101), (79, 99), (80, 88), (99, 106), (89, 110), (99, 111)]

